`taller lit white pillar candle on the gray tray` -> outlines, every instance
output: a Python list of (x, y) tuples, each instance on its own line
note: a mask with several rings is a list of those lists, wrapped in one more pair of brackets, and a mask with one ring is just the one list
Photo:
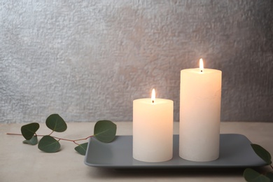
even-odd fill
[(206, 162), (219, 156), (221, 78), (222, 71), (202, 65), (181, 70), (179, 155), (183, 159)]

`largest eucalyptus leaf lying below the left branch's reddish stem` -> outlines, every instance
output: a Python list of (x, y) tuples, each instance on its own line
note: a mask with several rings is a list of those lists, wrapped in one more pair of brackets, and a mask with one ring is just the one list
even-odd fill
[(45, 153), (56, 153), (61, 148), (59, 141), (49, 135), (45, 135), (38, 144), (38, 149)]

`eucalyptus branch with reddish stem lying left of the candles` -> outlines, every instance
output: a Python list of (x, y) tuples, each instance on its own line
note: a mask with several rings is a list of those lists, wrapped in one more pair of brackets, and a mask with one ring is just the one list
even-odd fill
[[(116, 124), (112, 123), (110, 120), (99, 120), (94, 125), (94, 134), (83, 139), (64, 139), (59, 137), (50, 136), (53, 132), (64, 132), (67, 129), (67, 125), (64, 119), (58, 114), (52, 114), (48, 116), (45, 120), (45, 125), (52, 130), (48, 135), (36, 134), (40, 125), (38, 123), (29, 123), (21, 127), (22, 134), (7, 133), (10, 135), (22, 135), (26, 140), (23, 141), (24, 144), (31, 144), (32, 146), (38, 144), (38, 149), (46, 153), (56, 153), (61, 148), (59, 141), (71, 141), (78, 145), (74, 149), (81, 155), (85, 155), (87, 151), (87, 142), (84, 144), (78, 144), (78, 141), (83, 141), (91, 137), (95, 137), (97, 140), (104, 143), (109, 143), (113, 141), (116, 137)], [(37, 137), (42, 137), (38, 141)]]

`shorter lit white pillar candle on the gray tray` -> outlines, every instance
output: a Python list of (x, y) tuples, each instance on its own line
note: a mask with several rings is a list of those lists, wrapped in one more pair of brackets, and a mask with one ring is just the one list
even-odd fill
[(164, 162), (173, 155), (174, 102), (169, 99), (136, 99), (133, 102), (133, 158)]

